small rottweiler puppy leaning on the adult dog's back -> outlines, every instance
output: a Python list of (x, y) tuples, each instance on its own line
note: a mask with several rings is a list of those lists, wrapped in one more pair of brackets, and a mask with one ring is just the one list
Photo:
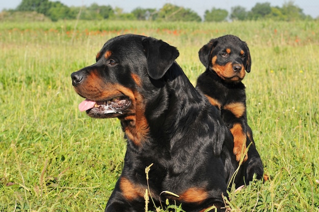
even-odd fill
[(198, 77), (196, 89), (221, 112), (222, 120), (233, 135), (236, 161), (240, 162), (242, 156), (243, 162), (248, 160), (244, 163), (246, 182), (252, 180), (254, 173), (258, 179), (262, 178), (263, 165), (247, 124), (246, 93), (242, 83), (245, 70), (251, 70), (247, 43), (237, 36), (225, 35), (211, 39), (198, 54), (206, 70)]

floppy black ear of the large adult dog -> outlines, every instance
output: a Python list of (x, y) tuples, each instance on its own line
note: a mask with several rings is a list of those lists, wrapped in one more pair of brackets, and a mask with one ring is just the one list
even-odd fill
[(147, 58), (147, 72), (154, 80), (162, 78), (179, 56), (176, 47), (168, 43), (147, 37), (142, 40)]

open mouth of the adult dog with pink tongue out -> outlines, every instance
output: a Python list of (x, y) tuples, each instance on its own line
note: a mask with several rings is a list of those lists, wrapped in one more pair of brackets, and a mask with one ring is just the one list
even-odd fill
[(123, 114), (130, 104), (131, 101), (126, 96), (117, 96), (105, 101), (86, 99), (79, 103), (78, 109), (95, 118), (108, 118), (112, 114)]

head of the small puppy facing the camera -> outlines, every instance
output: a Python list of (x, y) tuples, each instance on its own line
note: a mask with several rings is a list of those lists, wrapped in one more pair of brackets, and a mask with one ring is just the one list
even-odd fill
[(250, 72), (251, 57), (246, 42), (233, 35), (211, 39), (198, 52), (206, 69), (213, 70), (224, 81), (236, 83)]

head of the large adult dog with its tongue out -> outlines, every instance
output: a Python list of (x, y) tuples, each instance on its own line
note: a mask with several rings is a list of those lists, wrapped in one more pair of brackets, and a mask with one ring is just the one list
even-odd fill
[(71, 74), (85, 101), (79, 110), (93, 118), (134, 116), (145, 110), (145, 96), (178, 57), (178, 50), (151, 37), (122, 35), (107, 41), (96, 63)]

